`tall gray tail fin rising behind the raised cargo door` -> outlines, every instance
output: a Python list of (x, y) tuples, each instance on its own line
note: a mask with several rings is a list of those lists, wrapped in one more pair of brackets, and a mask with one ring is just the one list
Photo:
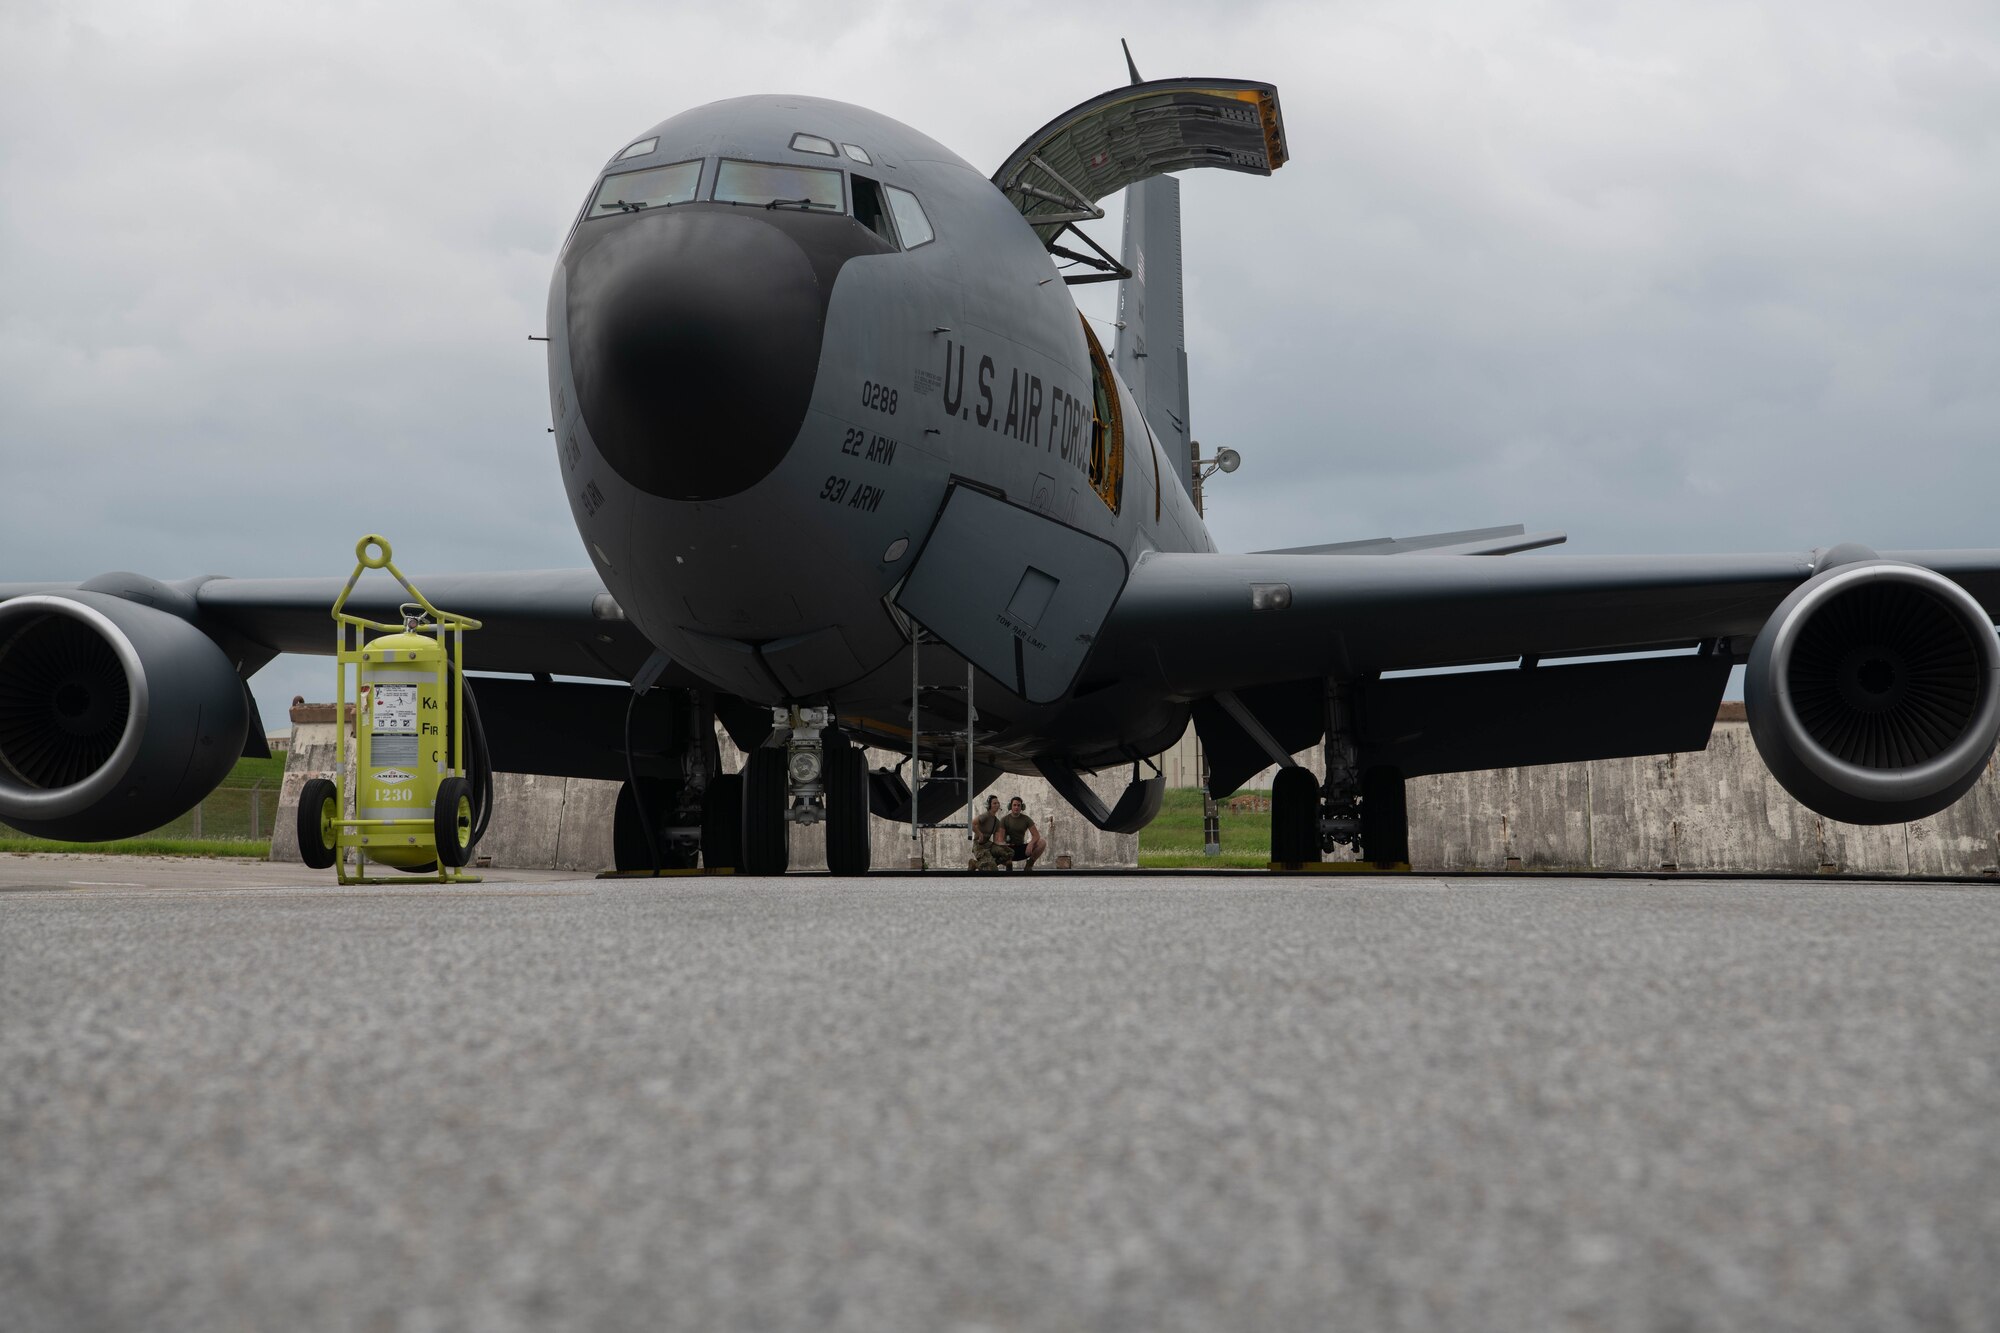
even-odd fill
[(1132, 272), (1118, 282), (1118, 374), (1138, 396), (1160, 452), (1186, 486), (1192, 456), (1188, 424), (1188, 346), (1180, 308), (1180, 182), (1154, 176), (1126, 188), (1124, 246)]

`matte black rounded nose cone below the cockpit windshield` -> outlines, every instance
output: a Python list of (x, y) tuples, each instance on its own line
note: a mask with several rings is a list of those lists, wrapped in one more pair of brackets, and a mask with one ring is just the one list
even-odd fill
[(566, 258), (576, 400), (634, 486), (730, 496), (798, 436), (832, 274), (822, 280), (786, 222), (736, 208), (640, 212), (586, 224)]

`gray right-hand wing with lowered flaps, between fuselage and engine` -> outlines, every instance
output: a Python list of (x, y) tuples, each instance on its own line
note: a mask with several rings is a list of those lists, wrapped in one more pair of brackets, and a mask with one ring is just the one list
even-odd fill
[[(1216, 793), (1320, 739), (1328, 679), (1362, 683), (1362, 745), (1408, 777), (1696, 751), (1728, 669), (1820, 558), (1148, 554), (1078, 693), (1124, 679), (1192, 701)], [(1882, 558), (2000, 612), (2000, 550)], [(1686, 652), (1560, 660), (1672, 648)], [(1516, 658), (1516, 671), (1378, 679)]]

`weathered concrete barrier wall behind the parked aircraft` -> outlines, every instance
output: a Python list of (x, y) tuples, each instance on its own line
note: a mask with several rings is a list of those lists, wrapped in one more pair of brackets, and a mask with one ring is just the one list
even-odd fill
[[(298, 861), (298, 789), (308, 777), (332, 777), (332, 711), (324, 723), (298, 723), (286, 763), (274, 861)], [(724, 745), (724, 767), (742, 757)], [(870, 751), (872, 767), (892, 767), (894, 753)], [(1302, 753), (1320, 773), (1320, 751)], [(1274, 771), (1248, 787), (1268, 787)], [(1092, 781), (1106, 805), (1124, 789), (1126, 771)], [(1130, 867), (1138, 839), (1098, 833), (1070, 811), (1042, 779), (1002, 777), (990, 789), (1002, 801), (1020, 795), (1050, 843), (1048, 865), (1068, 853), (1078, 867)], [(1412, 779), (1410, 863), (1428, 871), (1596, 869), (1596, 871), (1846, 871), (1860, 875), (1988, 875), (2000, 865), (2000, 773), (1986, 777), (1952, 809), (1912, 825), (1842, 825), (1792, 801), (1764, 769), (1742, 723), (1726, 705), (1708, 749), (1696, 755), (1608, 759), (1588, 765), (1494, 769)], [(494, 779), (494, 819), (480, 843), (492, 865), (594, 871), (612, 865), (616, 783), (502, 773)], [(874, 825), (874, 865), (910, 863), (910, 827)], [(962, 867), (962, 829), (930, 829), (918, 839), (932, 867)], [(792, 831), (792, 865), (824, 869), (824, 833)]]

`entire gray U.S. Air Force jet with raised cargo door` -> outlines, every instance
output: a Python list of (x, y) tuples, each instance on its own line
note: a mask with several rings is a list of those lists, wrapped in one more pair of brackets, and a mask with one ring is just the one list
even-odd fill
[[(488, 626), (488, 763), (622, 779), (622, 867), (774, 873), (788, 825), (824, 821), (860, 873), (870, 811), (942, 823), (1002, 771), (1134, 831), (1164, 789), (1146, 757), (1192, 721), (1216, 795), (1284, 767), (1278, 861), (1398, 863), (1404, 779), (1698, 751), (1748, 662), (1756, 743), (1814, 811), (1908, 821), (1968, 791), (2000, 735), (2000, 550), (1496, 558), (1562, 540), (1514, 526), (1218, 552), (1168, 172), (1284, 160), (1276, 88), (1136, 70), (992, 176), (818, 98), (622, 144), (548, 296), (592, 566), (420, 580)], [(1076, 224), (1126, 188), (1112, 258)], [(1068, 292), (1092, 280), (1122, 282), (1110, 356)], [(192, 807), (262, 747), (244, 681), (332, 650), (336, 590), (0, 588), (0, 819), (108, 839)], [(858, 743), (920, 763), (870, 771)], [(1314, 743), (1324, 781), (1292, 763)], [(1082, 775), (1124, 765), (1106, 807)]]

